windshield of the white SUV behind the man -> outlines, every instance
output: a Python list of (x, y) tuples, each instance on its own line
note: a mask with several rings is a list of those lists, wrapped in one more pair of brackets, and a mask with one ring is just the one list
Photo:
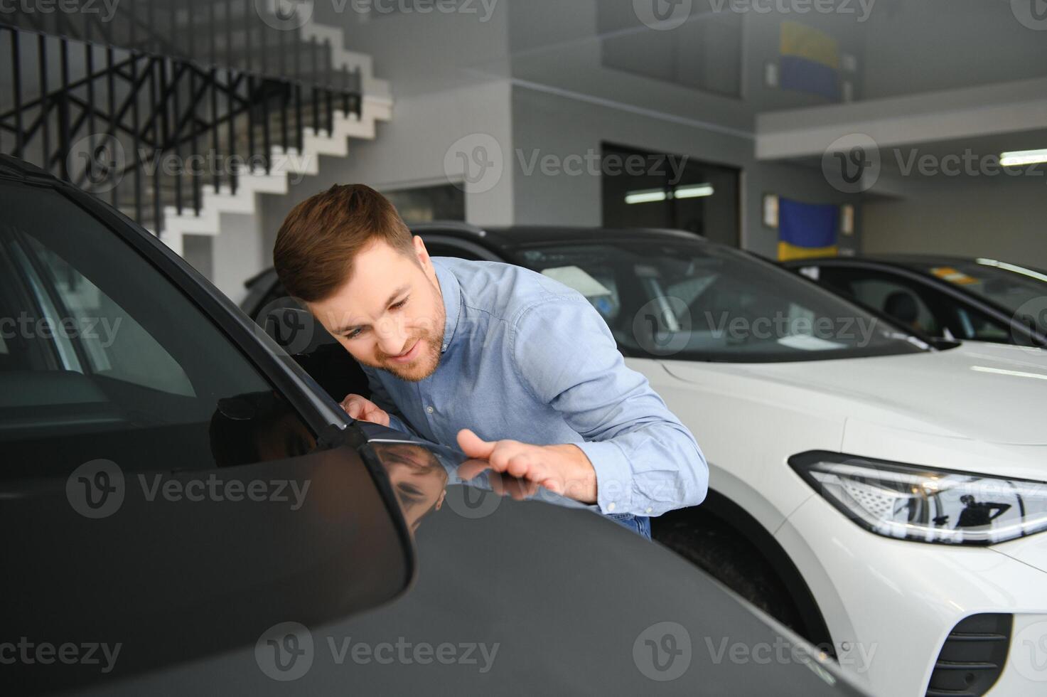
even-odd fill
[(697, 240), (524, 246), (517, 260), (585, 296), (626, 355), (759, 363), (928, 348), (785, 270)]

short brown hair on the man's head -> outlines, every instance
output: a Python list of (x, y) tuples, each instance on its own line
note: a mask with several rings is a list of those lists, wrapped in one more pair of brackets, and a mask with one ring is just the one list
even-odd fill
[(315, 302), (349, 280), (353, 259), (376, 240), (414, 253), (410, 231), (387, 198), (361, 183), (335, 184), (288, 214), (272, 262), (289, 295)]

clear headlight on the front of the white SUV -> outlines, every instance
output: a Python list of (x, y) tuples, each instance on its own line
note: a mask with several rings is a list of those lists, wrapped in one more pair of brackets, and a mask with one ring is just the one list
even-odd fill
[(888, 538), (990, 545), (1047, 529), (1047, 482), (826, 452), (788, 463), (848, 518)]

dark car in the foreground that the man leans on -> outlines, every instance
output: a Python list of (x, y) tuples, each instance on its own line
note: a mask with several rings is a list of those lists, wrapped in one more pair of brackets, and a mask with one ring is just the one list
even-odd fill
[(0, 156), (0, 204), (5, 694), (861, 694), (660, 545), (352, 421), (96, 199)]

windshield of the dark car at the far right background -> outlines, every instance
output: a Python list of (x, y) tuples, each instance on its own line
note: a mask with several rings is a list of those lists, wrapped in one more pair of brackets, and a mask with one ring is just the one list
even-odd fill
[(922, 270), (981, 296), (1047, 334), (1047, 274), (993, 259), (926, 265)]

